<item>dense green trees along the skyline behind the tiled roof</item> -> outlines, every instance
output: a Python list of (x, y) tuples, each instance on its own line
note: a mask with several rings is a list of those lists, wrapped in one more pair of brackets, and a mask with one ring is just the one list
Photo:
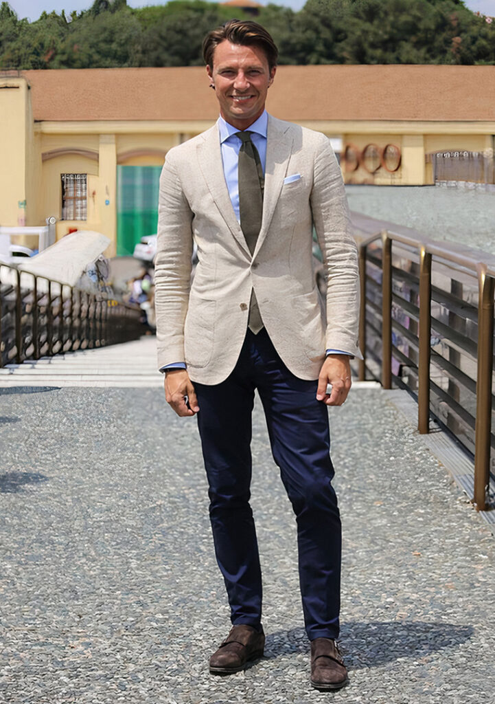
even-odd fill
[[(240, 8), (172, 0), (129, 8), (94, 0), (83, 12), (43, 13), (30, 23), (0, 5), (0, 68), (184, 66), (203, 63), (205, 34)], [(495, 22), (463, 0), (307, 0), (299, 12), (270, 4), (259, 23), (279, 63), (495, 63)]]

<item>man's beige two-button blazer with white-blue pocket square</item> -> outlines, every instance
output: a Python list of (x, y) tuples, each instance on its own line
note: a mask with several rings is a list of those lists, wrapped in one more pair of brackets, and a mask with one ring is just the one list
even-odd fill
[[(313, 271), (313, 225), (326, 306)], [(190, 285), (193, 241), (199, 263)], [(358, 260), (340, 167), (328, 137), (271, 116), (252, 256), (227, 190), (217, 125), (167, 153), (155, 260), (159, 367), (184, 361), (193, 381), (226, 379), (243, 345), (253, 288), (266, 331), (297, 377), (316, 379), (327, 348), (361, 356)]]

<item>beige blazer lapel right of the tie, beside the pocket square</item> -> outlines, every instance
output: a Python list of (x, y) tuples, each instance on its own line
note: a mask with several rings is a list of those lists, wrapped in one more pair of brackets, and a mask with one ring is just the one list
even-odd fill
[(292, 151), (293, 137), (289, 131), (290, 125), (286, 122), (281, 124), (282, 127), (279, 127), (277, 121), (269, 115), (266, 132), (262, 229), (259, 231), (253, 258), (259, 252), (266, 234), (268, 234)]

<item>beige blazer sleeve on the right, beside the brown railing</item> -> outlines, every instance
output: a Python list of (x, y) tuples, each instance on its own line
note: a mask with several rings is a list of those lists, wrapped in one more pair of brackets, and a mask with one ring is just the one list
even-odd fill
[(314, 161), (311, 213), (326, 271), (326, 347), (362, 358), (359, 337), (359, 265), (340, 166), (327, 137)]

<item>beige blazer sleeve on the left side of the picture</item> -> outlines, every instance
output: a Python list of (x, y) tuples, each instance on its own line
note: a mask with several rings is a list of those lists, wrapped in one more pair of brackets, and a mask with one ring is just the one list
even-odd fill
[(174, 150), (160, 176), (158, 238), (155, 258), (155, 308), (158, 368), (185, 362), (184, 322), (191, 285), (193, 212), (176, 168)]

